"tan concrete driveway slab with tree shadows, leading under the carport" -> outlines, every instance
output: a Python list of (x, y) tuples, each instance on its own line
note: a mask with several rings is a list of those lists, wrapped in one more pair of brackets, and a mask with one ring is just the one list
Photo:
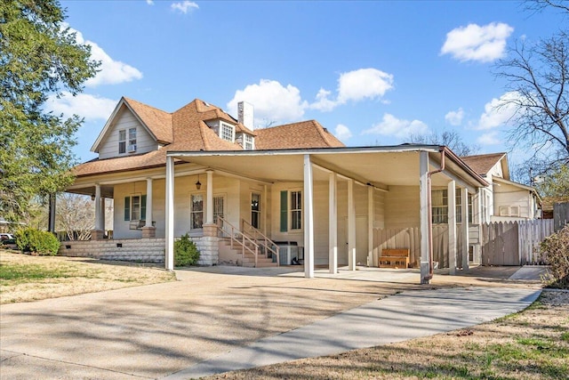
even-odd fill
[[(6, 304), (0, 310), (0, 378), (189, 375), (184, 369), (197, 363), (322, 323), (341, 311), (369, 309), (399, 292), (455, 285), (517, 287), (520, 298), (532, 295), (519, 308), (539, 293), (535, 282), (508, 282), (504, 276), (493, 282), (472, 273), (437, 276), (444, 280), (425, 287), (414, 285), (419, 275), (413, 271), (317, 271), (317, 279), (304, 279), (286, 268), (212, 267), (177, 271), (179, 281), (172, 283)], [(511, 292), (504, 293), (509, 301)], [(413, 307), (416, 299), (408, 298)], [(444, 302), (445, 297), (438, 298)]]

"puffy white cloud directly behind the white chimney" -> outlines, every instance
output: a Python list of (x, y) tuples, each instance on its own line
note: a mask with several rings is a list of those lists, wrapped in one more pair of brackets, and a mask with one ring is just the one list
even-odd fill
[(286, 122), (299, 120), (308, 107), (301, 99), (301, 91), (293, 85), (281, 85), (275, 80), (261, 79), (259, 85), (247, 85), (237, 90), (228, 101), (229, 113), (236, 115), (237, 102), (247, 101), (254, 107), (255, 123)]

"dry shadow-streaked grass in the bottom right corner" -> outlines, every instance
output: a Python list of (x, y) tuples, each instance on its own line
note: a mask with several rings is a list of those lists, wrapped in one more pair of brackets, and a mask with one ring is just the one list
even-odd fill
[(567, 379), (569, 293), (493, 322), (340, 355), (228, 372), (207, 379)]

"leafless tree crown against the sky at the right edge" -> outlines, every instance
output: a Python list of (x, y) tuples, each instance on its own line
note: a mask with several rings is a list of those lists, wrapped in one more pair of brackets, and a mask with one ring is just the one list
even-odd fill
[(533, 162), (557, 167), (569, 161), (569, 40), (565, 32), (537, 43), (524, 40), (497, 64), (509, 96), (498, 108), (513, 106), (509, 141), (533, 151)]

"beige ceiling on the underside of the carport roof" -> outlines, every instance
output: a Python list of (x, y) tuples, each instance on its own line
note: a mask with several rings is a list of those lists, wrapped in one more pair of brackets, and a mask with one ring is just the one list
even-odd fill
[[(264, 182), (301, 182), (305, 151), (172, 152), (171, 156), (200, 166), (239, 174)], [(313, 164), (357, 181), (376, 186), (418, 186), (419, 154), (412, 151), (325, 151), (309, 152)], [(432, 158), (438, 152), (431, 152)], [(432, 167), (431, 167), (432, 169)], [(316, 181), (327, 181), (328, 172), (315, 167)], [(433, 186), (448, 179), (433, 176)]]

